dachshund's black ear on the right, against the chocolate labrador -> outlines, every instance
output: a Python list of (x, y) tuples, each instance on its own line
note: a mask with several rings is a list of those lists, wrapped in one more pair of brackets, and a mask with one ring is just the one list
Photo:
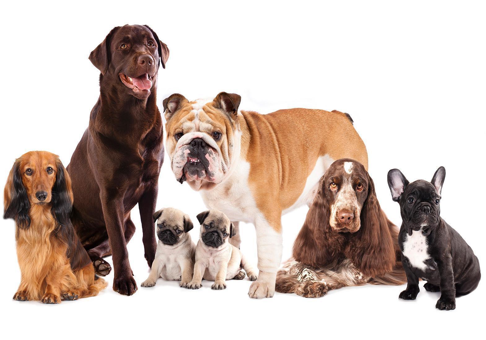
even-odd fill
[(61, 161), (56, 162), (57, 172), (56, 181), (52, 187), (52, 216), (62, 225), (67, 226), (70, 222), (69, 215), (72, 210), (72, 189), (71, 178), (68, 171), (64, 168)]

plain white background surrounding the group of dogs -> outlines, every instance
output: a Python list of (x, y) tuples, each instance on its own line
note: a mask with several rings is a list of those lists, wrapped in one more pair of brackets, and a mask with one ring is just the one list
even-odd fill
[[(3, 4), (0, 179), (30, 150), (57, 153), (68, 165), (98, 97), (99, 71), (89, 52), (114, 26), (148, 24), (170, 49), (158, 76), (159, 107), (174, 92), (193, 100), (226, 91), (242, 95), (241, 109), (260, 113), (291, 107), (347, 112), (366, 144), (389, 218), (400, 223), (386, 183), (389, 169), (430, 180), (445, 166), (442, 217), (485, 263), (486, 25), (480, 2), (202, 2)], [(180, 208), (197, 224), (205, 209), (200, 195), (177, 183), (168, 165), (160, 174), (157, 207)], [(282, 218), (284, 259), (306, 211)], [(448, 312), (434, 308), (439, 293), (424, 289), (415, 302), (400, 301), (404, 287), (258, 301), (246, 295), (247, 279), (228, 282), (224, 291), (204, 282), (190, 291), (162, 279), (141, 288), (148, 267), (137, 208), (132, 218), (138, 229), (128, 250), (139, 291), (115, 293), (111, 273), (99, 296), (56, 306), (12, 300), (19, 283), (15, 228), (2, 220), (1, 332), (35, 338), (466, 337), (484, 320), (484, 282)], [(256, 263), (254, 227), (240, 229), (242, 250)], [(197, 227), (191, 236), (197, 239)]]

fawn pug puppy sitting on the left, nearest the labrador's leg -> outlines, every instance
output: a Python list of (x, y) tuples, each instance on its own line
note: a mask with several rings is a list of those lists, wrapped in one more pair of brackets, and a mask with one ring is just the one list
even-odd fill
[(159, 277), (164, 280), (180, 280), (180, 287), (191, 281), (196, 246), (189, 231), (193, 228), (189, 215), (179, 209), (164, 208), (154, 213), (157, 222), (157, 250), (149, 277), (142, 287), (155, 286)]

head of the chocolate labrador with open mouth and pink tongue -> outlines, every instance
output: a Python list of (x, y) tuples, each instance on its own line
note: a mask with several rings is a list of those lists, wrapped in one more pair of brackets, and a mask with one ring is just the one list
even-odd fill
[[(155, 85), (157, 71), (169, 58), (167, 45), (147, 25), (115, 27), (89, 54), (89, 60), (101, 71), (103, 80), (138, 99), (148, 98)], [(123, 93), (123, 92), (121, 92)]]

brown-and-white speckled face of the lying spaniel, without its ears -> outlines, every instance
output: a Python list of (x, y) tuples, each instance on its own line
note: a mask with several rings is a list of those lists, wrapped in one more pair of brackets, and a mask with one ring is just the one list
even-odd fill
[(338, 232), (357, 232), (361, 226), (361, 210), (370, 191), (364, 166), (352, 159), (339, 159), (326, 171), (322, 185), (329, 203), (330, 226)]

